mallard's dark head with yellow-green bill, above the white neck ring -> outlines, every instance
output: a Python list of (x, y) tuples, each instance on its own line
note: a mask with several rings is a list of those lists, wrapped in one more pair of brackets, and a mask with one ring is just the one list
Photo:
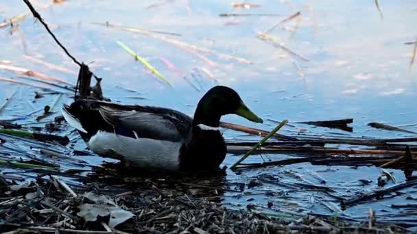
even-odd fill
[(215, 86), (204, 94), (198, 103), (194, 120), (198, 123), (218, 126), (220, 116), (226, 114), (237, 114), (252, 122), (263, 122), (261, 118), (250, 111), (235, 90), (226, 86)]

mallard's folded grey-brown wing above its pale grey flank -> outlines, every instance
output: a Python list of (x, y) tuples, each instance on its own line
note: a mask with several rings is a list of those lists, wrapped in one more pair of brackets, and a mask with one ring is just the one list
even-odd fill
[(193, 122), (191, 117), (172, 109), (145, 109), (111, 112), (101, 108), (99, 113), (119, 135), (171, 142), (185, 142), (189, 139)]

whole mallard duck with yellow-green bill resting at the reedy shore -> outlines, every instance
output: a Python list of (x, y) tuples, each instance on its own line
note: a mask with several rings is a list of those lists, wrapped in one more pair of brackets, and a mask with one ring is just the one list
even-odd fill
[(82, 99), (62, 114), (93, 152), (128, 168), (187, 172), (212, 170), (226, 156), (220, 117), (237, 114), (263, 122), (235, 90), (215, 86), (200, 99), (194, 118), (174, 109)]

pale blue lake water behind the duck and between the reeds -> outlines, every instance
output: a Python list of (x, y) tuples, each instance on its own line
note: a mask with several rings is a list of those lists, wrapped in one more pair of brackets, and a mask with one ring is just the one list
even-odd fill
[[(32, 3), (42, 8), (49, 1), (37, 0)], [(287, 119), (291, 123), (354, 118), (353, 133), (295, 124), (297, 128), (286, 126), (280, 131), (285, 135), (296, 135), (300, 129), (305, 129), (306, 134), (319, 135), (348, 134), (377, 138), (413, 136), (410, 133), (372, 129), (367, 124), (384, 122), (388, 125), (405, 125), (416, 122), (414, 101), (417, 94), (417, 68), (411, 62), (414, 44), (405, 44), (417, 40), (415, 1), (379, 1), (380, 10), (370, 0), (260, 0), (248, 2), (258, 4), (258, 7), (254, 5), (249, 9), (234, 8), (233, 3), (235, 2), (202, 0), (67, 1), (40, 10), (40, 14), (60, 42), (78, 60), (88, 64), (99, 77), (104, 77), (104, 94), (112, 101), (159, 105), (192, 115), (204, 92), (221, 84), (237, 90), (248, 107), (264, 120)], [(0, 0), (0, 21), (26, 12), (28, 10), (23, 1)], [(281, 23), (268, 32), (268, 35), (273, 36), (275, 44), (259, 38), (261, 33), (296, 12), (300, 12), (300, 16)], [(235, 16), (225, 17), (219, 14)], [(97, 25), (106, 22), (110, 25), (176, 35), (133, 33)], [(119, 47), (117, 40), (128, 45), (158, 69), (174, 84), (174, 88), (136, 62)], [(192, 46), (184, 46), (184, 43)], [(280, 43), (281, 48), (278, 46)], [(0, 47), (0, 64), (27, 68), (69, 83), (76, 82), (78, 66), (64, 55), (43, 26), (35, 22), (32, 16), (15, 24), (13, 29), (1, 28)], [(75, 72), (75, 75), (53, 70), (25, 55), (67, 68)], [(53, 88), (21, 79), (19, 76), (21, 75), (10, 70), (0, 70), (0, 77)], [(1, 102), (17, 90), (14, 99), (1, 112), (3, 119), (23, 116), (56, 99), (56, 95), (46, 95), (45, 98), (34, 101), (35, 88), (16, 86), (8, 82), (0, 82), (0, 88), (3, 90), (0, 92)], [(53, 90), (65, 91), (60, 88)], [(71, 96), (64, 95), (56, 108), (70, 101)], [(271, 121), (255, 124), (239, 116), (224, 116), (222, 120), (266, 131), (272, 130), (276, 125)], [(34, 119), (21, 120), (27, 121), (34, 122)], [(32, 126), (41, 127), (43, 124)], [(417, 131), (413, 127), (408, 129)], [(66, 133), (70, 131), (68, 129)], [(69, 134), (71, 139), (77, 137), (77, 133)], [(224, 136), (228, 140), (259, 140), (230, 130), (224, 131)], [(19, 145), (19, 142), (14, 143)], [(28, 146), (21, 143), (20, 147), (25, 150)], [(78, 141), (76, 148), (84, 147)], [(274, 160), (289, 156), (291, 155), (268, 157)], [(230, 166), (238, 158), (228, 155), (224, 165)], [(88, 157), (91, 164), (98, 165), (102, 160), (101, 157)], [(248, 162), (262, 160), (259, 156), (253, 156)], [(6, 170), (10, 169), (4, 169)], [(294, 179), (291, 171), (307, 179), (311, 179), (310, 171), (317, 172), (326, 179), (326, 185), (337, 191), (336, 194), (346, 198), (359, 191), (373, 190), (377, 186), (377, 177), (381, 174), (379, 168), (375, 167), (294, 164), (248, 170), (241, 174), (229, 171), (226, 180), (228, 183), (248, 183), (259, 180), (262, 174), (270, 174), (281, 181), (293, 183), (298, 179)], [(389, 171), (394, 172), (399, 182), (404, 181), (403, 172)], [(372, 183), (362, 186), (358, 179), (368, 179)], [(416, 190), (414, 187), (405, 191), (414, 196), (412, 192)], [(318, 202), (319, 198), (334, 203), (335, 206), (339, 205), (337, 201), (321, 193), (287, 191), (269, 183), (245, 191), (281, 191), (283, 194), (230, 198), (228, 195), (233, 195), (230, 193), (226, 194), (224, 202), (231, 207), (248, 203), (265, 207), (267, 201), (272, 201), (275, 207), (328, 215), (332, 215), (334, 211)], [(405, 200), (406, 197), (407, 194), (403, 194), (381, 202), (356, 205), (344, 212), (346, 216), (366, 217), (368, 208), (372, 207), (383, 220), (382, 216), (386, 213), (403, 212), (391, 208), (391, 204), (413, 203), (412, 200)], [(412, 218), (415, 219), (416, 216), (397, 220)]]

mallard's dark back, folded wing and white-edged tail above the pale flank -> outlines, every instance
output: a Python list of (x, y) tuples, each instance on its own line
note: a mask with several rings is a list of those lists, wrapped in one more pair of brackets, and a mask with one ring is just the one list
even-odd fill
[(130, 138), (184, 142), (191, 138), (193, 124), (190, 116), (174, 109), (86, 99), (75, 101), (70, 107), (64, 105), (62, 114), (85, 139), (98, 131), (107, 131)]

